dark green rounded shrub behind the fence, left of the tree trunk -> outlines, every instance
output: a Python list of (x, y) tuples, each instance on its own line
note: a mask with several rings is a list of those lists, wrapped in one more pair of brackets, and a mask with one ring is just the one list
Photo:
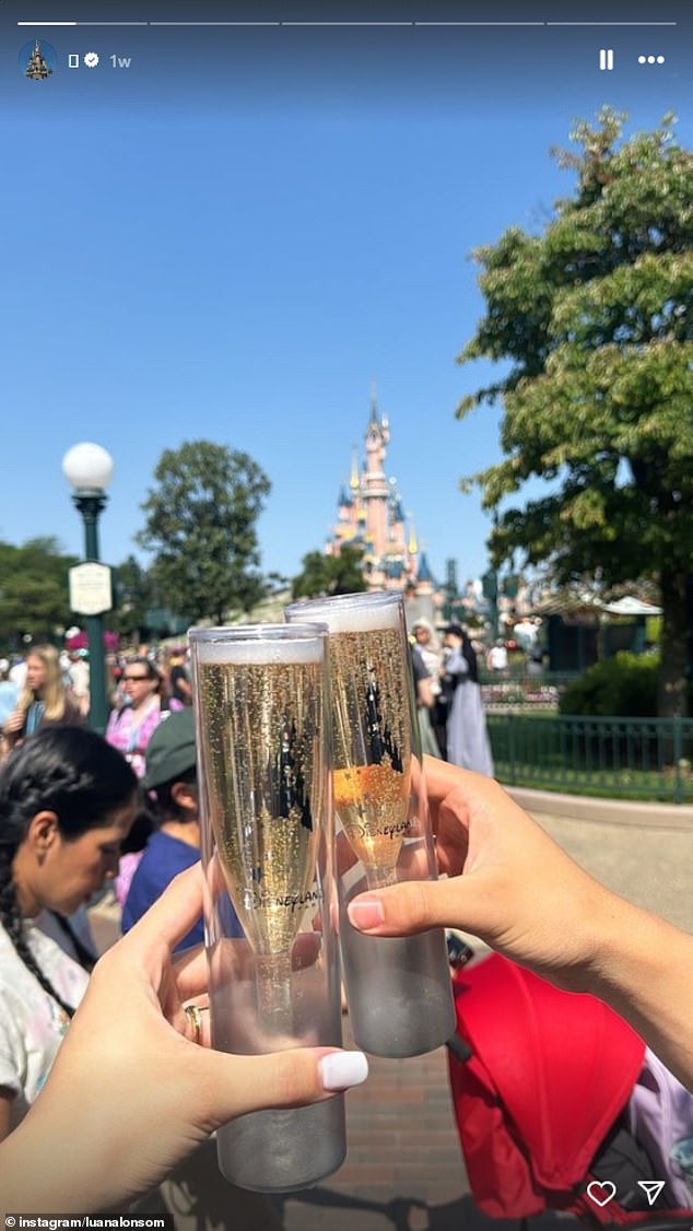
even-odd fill
[(655, 718), (657, 713), (656, 654), (620, 651), (596, 662), (564, 691), (561, 714), (602, 718)]

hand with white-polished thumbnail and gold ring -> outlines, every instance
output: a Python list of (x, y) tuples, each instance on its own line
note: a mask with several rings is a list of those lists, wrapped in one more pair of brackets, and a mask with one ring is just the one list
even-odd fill
[(361, 1053), (213, 1051), (208, 1013), (197, 1045), (183, 1006), (206, 1000), (204, 954), (174, 960), (171, 949), (201, 901), (196, 864), (97, 963), (44, 1089), (0, 1146), (7, 1209), (119, 1205), (236, 1115), (316, 1103), (364, 1080)]

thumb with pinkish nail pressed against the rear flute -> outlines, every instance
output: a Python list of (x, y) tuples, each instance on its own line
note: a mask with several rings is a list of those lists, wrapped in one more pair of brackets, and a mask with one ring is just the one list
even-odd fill
[(411, 936), (431, 927), (476, 932), (479, 899), (478, 886), (469, 878), (409, 880), (359, 894), (347, 913), (352, 926), (369, 936)]

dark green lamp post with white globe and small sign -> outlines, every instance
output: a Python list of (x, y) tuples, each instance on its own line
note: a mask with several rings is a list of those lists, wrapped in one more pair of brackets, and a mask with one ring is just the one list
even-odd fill
[[(106, 487), (113, 476), (113, 458), (101, 444), (87, 442), (74, 444), (63, 458), (63, 474), (75, 489), (73, 500), (84, 521), (85, 560), (98, 565), (98, 515), (105, 508), (108, 499), (106, 496)], [(80, 569), (84, 574), (84, 565), (78, 566), (73, 571), (76, 574)], [(111, 609), (110, 570), (96, 570), (97, 587), (94, 585), (94, 576), (85, 579), (82, 575), (80, 580), (82, 582), (87, 580), (87, 587), (81, 591), (81, 598), (70, 598), (70, 604), (73, 601), (80, 603), (79, 607), (74, 607), (74, 611), (86, 617), (86, 638), (89, 643), (89, 724), (96, 731), (103, 734), (108, 718), (106, 666), (103, 661), (103, 613)], [(107, 582), (106, 591), (103, 590), (103, 580)], [(71, 581), (73, 577), (70, 577)]]

